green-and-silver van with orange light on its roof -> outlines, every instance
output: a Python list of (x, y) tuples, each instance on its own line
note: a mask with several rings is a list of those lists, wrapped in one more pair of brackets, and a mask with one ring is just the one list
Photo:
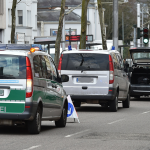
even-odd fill
[(41, 120), (65, 127), (68, 102), (61, 82), (66, 79), (37, 45), (0, 44), (0, 125), (26, 123), (35, 134)]

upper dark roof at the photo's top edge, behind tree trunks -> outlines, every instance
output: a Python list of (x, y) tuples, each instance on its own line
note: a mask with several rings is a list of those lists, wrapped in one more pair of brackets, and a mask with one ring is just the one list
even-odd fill
[[(94, 2), (94, 0), (90, 0), (90, 2)], [(82, 0), (66, 0), (65, 5), (68, 7), (76, 7), (82, 3)], [(38, 9), (46, 9), (50, 7), (60, 7), (61, 0), (38, 0)], [(93, 4), (89, 3), (89, 6), (93, 6)]]

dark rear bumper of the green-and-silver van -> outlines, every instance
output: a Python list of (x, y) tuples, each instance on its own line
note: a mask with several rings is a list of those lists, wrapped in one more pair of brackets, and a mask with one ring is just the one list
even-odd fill
[(33, 120), (36, 110), (37, 103), (27, 102), (25, 106), (30, 106), (30, 108), (25, 108), (23, 113), (1, 113), (0, 119), (2, 120)]

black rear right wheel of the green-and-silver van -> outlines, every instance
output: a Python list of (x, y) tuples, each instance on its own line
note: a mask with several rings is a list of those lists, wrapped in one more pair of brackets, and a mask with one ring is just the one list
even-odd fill
[(27, 122), (28, 132), (31, 134), (39, 134), (41, 131), (41, 118), (42, 112), (41, 108), (37, 108), (36, 115), (32, 121)]

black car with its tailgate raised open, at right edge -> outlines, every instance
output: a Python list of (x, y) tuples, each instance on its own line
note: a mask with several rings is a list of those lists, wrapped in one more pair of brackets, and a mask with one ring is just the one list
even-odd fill
[(150, 47), (130, 49), (133, 61), (130, 67), (130, 95), (135, 98), (150, 95)]

